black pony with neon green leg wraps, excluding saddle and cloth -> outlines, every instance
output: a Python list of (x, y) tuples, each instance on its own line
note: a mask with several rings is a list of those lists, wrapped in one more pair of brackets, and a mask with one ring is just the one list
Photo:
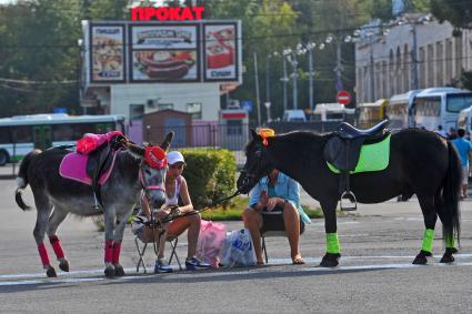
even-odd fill
[[(324, 146), (333, 134), (318, 135), (297, 131), (263, 140), (254, 131), (245, 149), (247, 162), (238, 179), (238, 189), (248, 193), (275, 168), (299, 181), (321, 204), (327, 233), (327, 253), (321, 266), (333, 267), (341, 256), (338, 240), (337, 205), (340, 175), (330, 171), (323, 158)], [(380, 203), (398, 195), (418, 195), (424, 216), (423, 245), (413, 263), (426, 264), (432, 255), (434, 226), (443, 224), (445, 253), (443, 263), (454, 261), (459, 242), (461, 161), (451, 142), (434, 132), (419, 129), (392, 133), (390, 162), (385, 170), (352, 174), (351, 191), (360, 203)]]

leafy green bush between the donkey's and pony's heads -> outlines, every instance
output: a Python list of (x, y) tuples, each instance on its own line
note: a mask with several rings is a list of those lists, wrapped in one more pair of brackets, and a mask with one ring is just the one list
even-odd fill
[(214, 149), (181, 150), (187, 163), (183, 175), (195, 209), (202, 209), (234, 192), (235, 160), (232, 152)]

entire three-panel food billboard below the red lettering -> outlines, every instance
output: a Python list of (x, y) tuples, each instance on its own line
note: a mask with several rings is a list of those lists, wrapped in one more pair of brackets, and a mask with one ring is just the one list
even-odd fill
[(84, 21), (90, 84), (242, 82), (241, 23)]

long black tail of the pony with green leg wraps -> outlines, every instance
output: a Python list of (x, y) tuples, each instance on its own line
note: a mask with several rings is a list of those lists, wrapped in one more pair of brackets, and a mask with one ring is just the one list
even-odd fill
[(459, 197), (462, 184), (462, 163), (459, 159), (458, 152), (450, 141), (448, 141), (448, 158), (449, 168), (443, 185), (443, 197), (445, 204), (443, 236), (444, 241), (446, 239), (453, 240), (455, 236), (459, 244), (461, 234), (461, 210), (459, 206)]

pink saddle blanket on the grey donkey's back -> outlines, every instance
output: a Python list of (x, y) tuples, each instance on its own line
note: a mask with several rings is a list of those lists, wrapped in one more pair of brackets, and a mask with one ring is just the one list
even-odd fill
[[(113, 170), (114, 160), (117, 153), (113, 153), (113, 160), (111, 161), (110, 168), (100, 176), (99, 184), (102, 185), (107, 182), (110, 176), (111, 171)], [(89, 185), (92, 185), (92, 179), (87, 174), (87, 161), (89, 155), (80, 153), (69, 153), (64, 155), (59, 166), (59, 174), (62, 178), (71, 179), (78, 182), (82, 182)]]

